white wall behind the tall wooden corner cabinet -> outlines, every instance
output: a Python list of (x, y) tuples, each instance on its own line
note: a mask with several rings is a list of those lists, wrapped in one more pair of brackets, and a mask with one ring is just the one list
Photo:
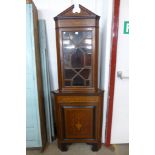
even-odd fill
[[(39, 19), (46, 20), (47, 46), (50, 58), (51, 89), (58, 88), (55, 23), (53, 17), (70, 7), (75, 0), (34, 0)], [(113, 0), (78, 0), (78, 2), (99, 15), (99, 87), (105, 90), (102, 142), (105, 141), (105, 118), (108, 97), (109, 58), (111, 44), (111, 19)]]

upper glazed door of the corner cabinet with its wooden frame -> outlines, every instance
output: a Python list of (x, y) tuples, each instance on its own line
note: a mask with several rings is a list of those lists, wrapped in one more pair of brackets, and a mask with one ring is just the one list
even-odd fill
[(94, 28), (61, 28), (59, 34), (59, 85), (63, 90), (96, 88), (96, 53)]

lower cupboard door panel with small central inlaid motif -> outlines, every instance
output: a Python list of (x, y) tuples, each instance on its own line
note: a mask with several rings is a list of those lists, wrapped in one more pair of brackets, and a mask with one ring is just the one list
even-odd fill
[(96, 106), (62, 106), (64, 139), (95, 139)]

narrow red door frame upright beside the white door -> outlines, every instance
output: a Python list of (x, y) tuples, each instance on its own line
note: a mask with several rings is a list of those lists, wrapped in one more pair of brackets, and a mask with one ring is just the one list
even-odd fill
[(105, 135), (105, 145), (107, 147), (110, 146), (111, 142), (111, 127), (112, 127), (115, 74), (116, 74), (116, 62), (117, 62), (116, 57), (117, 57), (118, 27), (119, 27), (119, 10), (120, 10), (120, 0), (114, 0), (113, 16), (112, 16), (112, 33), (111, 33), (111, 56), (110, 56), (110, 69), (109, 69), (109, 92), (108, 92), (106, 135)]

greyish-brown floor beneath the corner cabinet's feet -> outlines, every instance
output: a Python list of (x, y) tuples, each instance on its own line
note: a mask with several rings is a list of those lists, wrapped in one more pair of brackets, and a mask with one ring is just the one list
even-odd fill
[(70, 145), (67, 152), (61, 152), (54, 141), (46, 146), (44, 152), (27, 150), (26, 155), (129, 155), (129, 144), (112, 145), (109, 148), (102, 145), (98, 152), (92, 152), (91, 145), (76, 143)]

